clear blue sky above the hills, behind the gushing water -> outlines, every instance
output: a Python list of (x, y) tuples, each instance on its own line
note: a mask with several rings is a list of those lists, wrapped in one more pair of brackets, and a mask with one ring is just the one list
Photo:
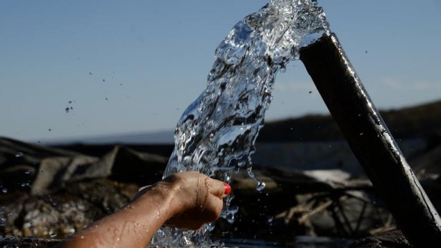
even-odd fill
[[(204, 90), (216, 46), (266, 2), (0, 1), (0, 135), (171, 130)], [(441, 99), (439, 0), (318, 3), (378, 108)], [(298, 61), (273, 95), (266, 120), (327, 113)]]

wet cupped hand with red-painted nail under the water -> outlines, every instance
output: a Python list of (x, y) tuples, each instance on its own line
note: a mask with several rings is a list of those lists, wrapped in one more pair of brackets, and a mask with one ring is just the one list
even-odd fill
[(195, 171), (175, 173), (144, 187), (135, 195), (159, 193), (171, 195), (166, 213), (166, 225), (197, 230), (206, 222), (219, 218), (223, 208), (223, 198), (231, 191), (230, 185), (207, 177)]

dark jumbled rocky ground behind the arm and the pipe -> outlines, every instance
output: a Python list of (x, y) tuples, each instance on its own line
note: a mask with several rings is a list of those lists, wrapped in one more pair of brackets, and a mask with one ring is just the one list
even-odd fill
[[(18, 242), (19, 247), (48, 247), (54, 239), (123, 207), (140, 186), (161, 178), (168, 159), (157, 152), (160, 149), (150, 147), (159, 154), (137, 149), (112, 146), (94, 156), (1, 138), (0, 246)], [(409, 156), (410, 165), (439, 207), (440, 168), (435, 164), (441, 158), (440, 143), (426, 142)], [(232, 173), (232, 205), (238, 212), (233, 224), (225, 219), (216, 222), (212, 236), (257, 238), (286, 247), (293, 247), (298, 236), (361, 238), (353, 247), (410, 247), (394, 231), (395, 222), (370, 181), (362, 174), (349, 173), (338, 162), (331, 164), (335, 167), (305, 171), (256, 162), (254, 174), (267, 185), (260, 192), (245, 172)], [(30, 236), (34, 238), (26, 238)], [(369, 246), (374, 243), (377, 246)]]

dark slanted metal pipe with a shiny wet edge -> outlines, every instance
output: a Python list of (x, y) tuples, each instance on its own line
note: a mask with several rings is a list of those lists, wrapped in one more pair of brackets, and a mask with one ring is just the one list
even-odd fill
[(415, 247), (441, 247), (441, 218), (422, 189), (336, 35), (300, 50), (300, 60), (401, 231)]

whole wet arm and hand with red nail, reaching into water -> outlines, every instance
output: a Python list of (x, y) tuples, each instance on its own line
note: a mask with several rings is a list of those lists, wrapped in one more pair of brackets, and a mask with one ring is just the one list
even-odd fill
[(55, 247), (140, 247), (150, 242), (162, 225), (197, 230), (216, 220), (227, 184), (188, 171), (141, 188), (134, 200)]

